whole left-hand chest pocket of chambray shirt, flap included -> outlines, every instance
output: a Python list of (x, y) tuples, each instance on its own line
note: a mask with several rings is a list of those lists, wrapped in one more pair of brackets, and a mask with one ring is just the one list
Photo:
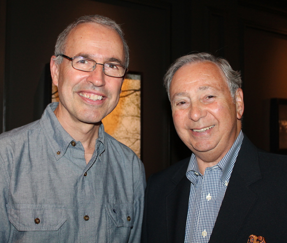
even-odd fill
[(15, 227), (12, 242), (62, 242), (67, 212), (63, 205), (7, 204)]

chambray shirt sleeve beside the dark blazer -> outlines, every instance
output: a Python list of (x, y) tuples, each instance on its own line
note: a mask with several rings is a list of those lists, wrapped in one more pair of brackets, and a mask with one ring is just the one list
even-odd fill
[[(134, 161), (134, 171), (137, 171), (136, 173), (137, 176), (135, 178), (138, 179), (135, 180), (134, 200), (133, 200), (134, 221), (128, 243), (140, 242), (141, 224), (144, 213), (144, 191), (146, 188), (146, 175), (143, 163), (137, 157), (135, 159), (137, 160)], [(138, 169), (135, 169), (135, 166), (138, 167)]]

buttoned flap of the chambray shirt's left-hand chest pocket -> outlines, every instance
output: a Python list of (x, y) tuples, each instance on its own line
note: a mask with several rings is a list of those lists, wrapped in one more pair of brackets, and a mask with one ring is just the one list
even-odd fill
[(58, 230), (67, 220), (63, 205), (7, 204), (7, 212), (9, 221), (19, 231)]

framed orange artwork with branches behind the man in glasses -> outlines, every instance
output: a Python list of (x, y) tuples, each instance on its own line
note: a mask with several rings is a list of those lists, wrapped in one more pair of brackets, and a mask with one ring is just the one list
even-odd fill
[[(105, 132), (132, 149), (139, 158), (141, 158), (141, 82), (141, 73), (128, 72), (118, 105), (102, 120)], [(52, 83), (52, 102), (58, 101), (58, 89)]]

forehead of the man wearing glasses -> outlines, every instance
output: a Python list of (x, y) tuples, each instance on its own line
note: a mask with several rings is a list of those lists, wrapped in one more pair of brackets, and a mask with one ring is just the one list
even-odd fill
[(68, 35), (65, 52), (67, 55), (79, 53), (91, 56), (115, 57), (124, 61), (123, 41), (114, 29), (97, 23), (77, 25)]

